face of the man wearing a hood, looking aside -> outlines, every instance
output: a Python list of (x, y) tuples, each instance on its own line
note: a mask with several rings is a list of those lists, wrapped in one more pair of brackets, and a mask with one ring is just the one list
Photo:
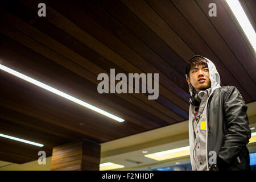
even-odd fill
[[(206, 63), (206, 61), (204, 60)], [(190, 77), (190, 78), (189, 78)], [(201, 89), (210, 88), (209, 69), (205, 65), (195, 65), (190, 69), (188, 84), (192, 84), (193, 88), (198, 92)]]

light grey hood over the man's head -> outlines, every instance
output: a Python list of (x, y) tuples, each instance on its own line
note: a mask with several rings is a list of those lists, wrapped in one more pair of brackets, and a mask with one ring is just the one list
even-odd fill
[[(210, 78), (210, 95), (212, 94), (212, 92), (216, 89), (216, 88), (220, 88), (220, 75), (218, 74), (218, 71), (215, 67), (215, 65), (212, 63), (212, 61), (210, 61), (209, 59), (207, 59), (206, 57), (200, 56), (200, 55), (196, 55), (193, 56), (191, 59), (193, 59), (194, 57), (202, 57), (205, 61), (207, 61), (207, 65), (208, 65), (208, 69), (209, 69), (209, 78)], [(188, 75), (186, 75), (186, 78), (188, 77)], [(189, 93), (192, 96), (193, 94), (196, 93), (196, 89), (193, 88), (192, 84), (188, 84), (189, 86)]]

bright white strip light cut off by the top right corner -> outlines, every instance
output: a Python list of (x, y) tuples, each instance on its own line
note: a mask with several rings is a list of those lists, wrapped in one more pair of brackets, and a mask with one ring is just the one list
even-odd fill
[(238, 0), (226, 0), (226, 3), (228, 3), (254, 51), (256, 51), (256, 34), (240, 2)]

